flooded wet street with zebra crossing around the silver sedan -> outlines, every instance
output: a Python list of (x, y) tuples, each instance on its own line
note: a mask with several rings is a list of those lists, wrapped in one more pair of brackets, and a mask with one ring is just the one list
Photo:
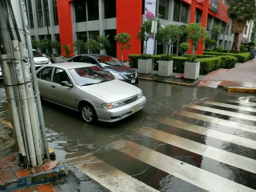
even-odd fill
[[(43, 102), (58, 191), (256, 191), (256, 97), (140, 81), (140, 112), (112, 124)], [(0, 117), (10, 120), (0, 85)]]

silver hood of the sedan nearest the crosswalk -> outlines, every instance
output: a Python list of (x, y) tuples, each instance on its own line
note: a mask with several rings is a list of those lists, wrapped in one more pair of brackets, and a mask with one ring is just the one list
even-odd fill
[(141, 92), (140, 88), (117, 79), (99, 84), (82, 86), (81, 88), (88, 90), (109, 102), (120, 101)]

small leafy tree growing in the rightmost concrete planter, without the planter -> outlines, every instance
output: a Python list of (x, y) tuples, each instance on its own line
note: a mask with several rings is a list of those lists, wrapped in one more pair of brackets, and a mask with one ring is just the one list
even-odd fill
[(196, 52), (196, 44), (203, 44), (207, 35), (207, 32), (200, 23), (190, 23), (185, 28), (186, 34), (188, 34), (188, 39), (192, 44), (192, 59), (194, 60), (194, 54)]

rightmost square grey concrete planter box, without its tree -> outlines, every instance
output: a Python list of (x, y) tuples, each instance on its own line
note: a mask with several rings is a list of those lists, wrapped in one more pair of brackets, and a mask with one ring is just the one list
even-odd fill
[(200, 62), (185, 62), (184, 79), (196, 80), (199, 78)]

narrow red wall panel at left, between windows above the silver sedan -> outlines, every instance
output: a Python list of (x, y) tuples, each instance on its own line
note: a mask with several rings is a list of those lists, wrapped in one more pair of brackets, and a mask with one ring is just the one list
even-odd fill
[[(70, 50), (74, 50), (70, 0), (57, 0), (57, 8), (60, 30), (60, 45), (64, 46), (64, 44), (69, 44)], [(61, 49), (61, 54), (65, 56), (64, 49)], [(72, 53), (71, 56), (73, 55), (74, 54)]]

